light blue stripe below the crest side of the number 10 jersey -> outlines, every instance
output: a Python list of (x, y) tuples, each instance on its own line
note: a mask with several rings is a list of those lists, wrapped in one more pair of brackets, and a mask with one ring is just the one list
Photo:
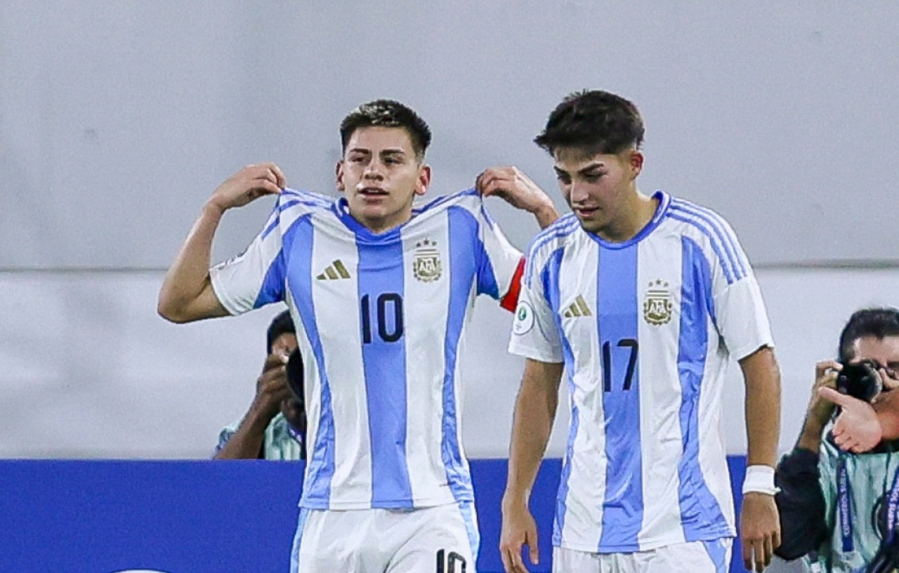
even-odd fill
[[(441, 457), (447, 472), (449, 489), (457, 501), (472, 498), (471, 476), (462, 460), (458, 444), (458, 412), (456, 410), (456, 363), (458, 341), (465, 325), (468, 294), (477, 279), (476, 257), (472, 256), (476, 245), (471, 238), (477, 236), (476, 222), (462, 209), (447, 209), (449, 228), (449, 307), (447, 331), (444, 342), (443, 371), (443, 439)], [(480, 243), (480, 242), (478, 242)], [(483, 245), (480, 245), (483, 249)]]

